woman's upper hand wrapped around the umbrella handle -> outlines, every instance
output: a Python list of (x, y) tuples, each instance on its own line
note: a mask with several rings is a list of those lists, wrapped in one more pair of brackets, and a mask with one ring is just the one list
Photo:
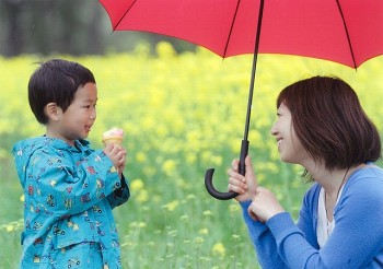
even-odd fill
[(245, 176), (239, 173), (240, 161), (234, 160), (232, 167), (228, 171), (229, 175), (229, 190), (232, 190), (239, 196), (235, 197), (237, 201), (253, 200), (255, 190), (258, 186), (249, 156), (245, 159), (246, 173)]

